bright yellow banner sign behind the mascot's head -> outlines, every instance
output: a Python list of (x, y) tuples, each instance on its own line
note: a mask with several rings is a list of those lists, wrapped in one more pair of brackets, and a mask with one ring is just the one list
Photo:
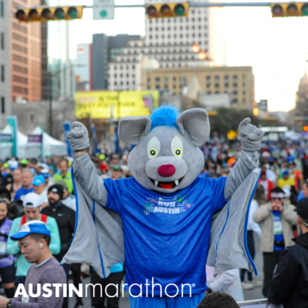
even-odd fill
[(159, 105), (159, 91), (90, 91), (75, 93), (77, 118), (150, 116)]

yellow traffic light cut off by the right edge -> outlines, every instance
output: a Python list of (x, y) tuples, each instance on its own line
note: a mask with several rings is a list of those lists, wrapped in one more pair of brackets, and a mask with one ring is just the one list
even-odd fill
[(271, 3), (272, 17), (308, 16), (308, 3)]

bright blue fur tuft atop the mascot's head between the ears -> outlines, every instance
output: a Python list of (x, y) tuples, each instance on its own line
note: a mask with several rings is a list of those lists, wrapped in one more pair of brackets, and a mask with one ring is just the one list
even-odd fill
[(157, 126), (177, 127), (177, 117), (179, 116), (179, 108), (174, 107), (173, 104), (167, 105), (166, 102), (162, 107), (155, 108), (151, 115), (151, 129)]

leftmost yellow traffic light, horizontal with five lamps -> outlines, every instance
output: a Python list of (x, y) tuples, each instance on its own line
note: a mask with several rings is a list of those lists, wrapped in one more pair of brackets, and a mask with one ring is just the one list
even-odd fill
[(23, 8), (16, 12), (16, 18), (20, 22), (29, 23), (31, 21), (63, 21), (70, 19), (81, 19), (84, 12), (83, 6), (63, 6), (49, 8), (47, 6), (36, 6), (34, 8)]

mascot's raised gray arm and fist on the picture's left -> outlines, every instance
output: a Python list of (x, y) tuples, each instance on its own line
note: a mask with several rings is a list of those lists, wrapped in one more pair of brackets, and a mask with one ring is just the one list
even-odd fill
[(73, 130), (67, 135), (67, 139), (76, 153), (73, 164), (74, 177), (80, 183), (84, 191), (94, 201), (101, 205), (107, 203), (107, 190), (104, 181), (91, 162), (86, 149), (90, 147), (88, 129), (80, 122), (73, 123)]

